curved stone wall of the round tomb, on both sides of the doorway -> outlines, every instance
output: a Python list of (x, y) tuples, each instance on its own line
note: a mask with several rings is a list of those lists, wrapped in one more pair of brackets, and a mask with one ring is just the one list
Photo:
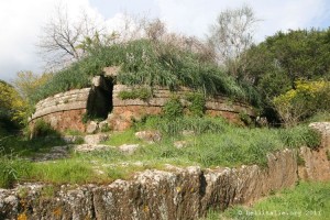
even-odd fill
[[(107, 96), (97, 92), (97, 86), (101, 82), (95, 84), (92, 88), (75, 89), (67, 92), (57, 94), (41, 100), (35, 106), (35, 113), (31, 117), (30, 125), (33, 128), (37, 119), (43, 119), (51, 123), (53, 128), (58, 131), (78, 130), (86, 131), (88, 124), (82, 123), (82, 118), (89, 108), (98, 111), (97, 108), (105, 108), (107, 105), (100, 102), (111, 100)], [(123, 90), (133, 90), (132, 87), (124, 85), (114, 85), (112, 92), (112, 111), (107, 121), (113, 130), (125, 130), (131, 123), (132, 119), (140, 119), (147, 114), (161, 114), (162, 108), (168, 99), (176, 94), (182, 97), (182, 103), (187, 107), (189, 103), (185, 97), (191, 90), (182, 88), (178, 91), (170, 92), (168, 89), (156, 87), (153, 90), (153, 97), (147, 101), (140, 99), (122, 100), (119, 94)], [(108, 92), (103, 90), (103, 92)], [(110, 96), (111, 97), (111, 96)], [(244, 112), (251, 117), (254, 116), (253, 109), (245, 103), (231, 101), (226, 97), (216, 97), (208, 99), (206, 102), (206, 112), (210, 116), (222, 116), (233, 122), (240, 122), (239, 113)]]

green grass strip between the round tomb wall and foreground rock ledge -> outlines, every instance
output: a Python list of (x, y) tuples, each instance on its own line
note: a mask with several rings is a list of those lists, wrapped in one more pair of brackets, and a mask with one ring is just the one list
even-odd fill
[[(134, 136), (134, 133), (141, 130), (160, 130), (163, 139), (153, 144), (143, 142)], [(193, 132), (184, 135), (184, 131)], [(22, 161), (19, 156), (47, 152), (54, 146), (55, 140), (10, 142), (14, 153), (3, 151), (2, 163), (10, 165), (2, 173), (3, 179), (8, 178), (9, 184), (4, 183), (2, 186), (21, 180), (53, 184), (110, 183), (116, 178), (130, 178), (134, 172), (145, 168), (164, 168), (166, 164), (183, 167), (189, 165), (237, 167), (243, 164), (257, 164), (266, 167), (268, 153), (285, 147), (316, 147), (320, 142), (319, 138), (306, 125), (293, 129), (249, 129), (229, 124), (221, 118), (185, 117), (169, 121), (152, 117), (136, 122), (128, 131), (112, 133), (110, 140), (105, 142), (111, 146), (140, 144), (131, 155), (109, 146), (108, 151), (102, 152), (72, 153), (67, 160), (26, 162), (29, 167), (26, 173), (19, 166)], [(176, 141), (185, 141), (187, 146), (177, 148), (174, 146)], [(9, 155), (19, 156), (9, 157)], [(14, 176), (8, 175), (13, 170)]]

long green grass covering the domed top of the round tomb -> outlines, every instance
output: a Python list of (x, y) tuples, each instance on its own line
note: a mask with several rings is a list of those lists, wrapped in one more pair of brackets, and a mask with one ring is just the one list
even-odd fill
[(111, 46), (99, 46), (85, 58), (58, 72), (33, 97), (38, 101), (70, 89), (90, 86), (90, 79), (103, 67), (120, 66), (117, 81), (124, 85), (165, 86), (175, 90), (186, 86), (207, 95), (222, 94), (257, 102), (251, 87), (239, 85), (215, 62), (201, 54), (178, 48), (169, 43), (136, 40)]

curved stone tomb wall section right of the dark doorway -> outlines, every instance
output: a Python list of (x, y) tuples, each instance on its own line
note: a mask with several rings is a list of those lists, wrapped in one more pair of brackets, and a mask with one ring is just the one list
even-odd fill
[[(190, 89), (180, 88), (177, 91), (169, 91), (166, 88), (155, 87), (153, 89), (153, 97), (148, 100), (119, 98), (121, 91), (134, 91), (132, 87), (125, 85), (114, 85), (113, 87), (113, 110), (109, 122), (114, 130), (124, 130), (131, 124), (131, 119), (140, 119), (145, 114), (160, 114), (165, 103), (176, 95), (180, 97), (184, 107), (188, 107), (189, 102), (185, 100), (187, 94), (193, 92)], [(221, 116), (232, 122), (241, 122), (239, 113), (246, 113), (254, 117), (253, 108), (246, 103), (232, 101), (227, 97), (218, 96), (209, 98), (206, 102), (206, 113), (209, 116)]]

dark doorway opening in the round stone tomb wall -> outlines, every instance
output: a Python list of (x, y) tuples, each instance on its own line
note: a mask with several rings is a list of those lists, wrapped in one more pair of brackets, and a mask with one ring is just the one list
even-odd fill
[(112, 111), (113, 79), (100, 76), (98, 85), (92, 86), (88, 101), (87, 113), (91, 119), (107, 119)]

